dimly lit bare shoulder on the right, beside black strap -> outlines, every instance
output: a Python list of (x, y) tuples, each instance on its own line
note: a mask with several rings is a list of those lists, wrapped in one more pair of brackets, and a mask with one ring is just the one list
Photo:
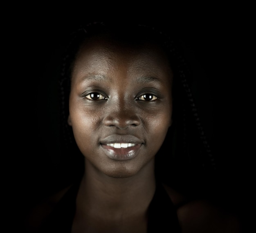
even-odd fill
[(188, 200), (170, 187), (166, 191), (177, 206), (182, 233), (241, 233), (240, 220), (231, 211), (208, 200)]

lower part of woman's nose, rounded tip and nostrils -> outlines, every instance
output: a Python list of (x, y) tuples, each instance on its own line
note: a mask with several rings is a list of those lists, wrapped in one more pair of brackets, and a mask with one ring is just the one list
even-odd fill
[(115, 126), (119, 129), (126, 129), (129, 126), (140, 125), (140, 119), (136, 108), (121, 103), (108, 108), (106, 117), (103, 120), (106, 126)]

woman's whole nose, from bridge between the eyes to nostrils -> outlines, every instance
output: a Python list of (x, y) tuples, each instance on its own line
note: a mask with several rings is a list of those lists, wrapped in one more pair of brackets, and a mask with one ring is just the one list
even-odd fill
[(104, 124), (120, 129), (125, 129), (130, 125), (139, 125), (139, 116), (133, 103), (133, 99), (124, 94), (110, 98)]

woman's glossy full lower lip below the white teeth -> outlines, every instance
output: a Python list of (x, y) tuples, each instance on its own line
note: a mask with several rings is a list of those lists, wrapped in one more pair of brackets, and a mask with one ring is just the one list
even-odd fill
[(109, 158), (124, 161), (135, 158), (139, 152), (141, 144), (136, 144), (135, 146), (127, 148), (114, 148), (106, 144), (101, 144), (101, 146), (103, 147), (103, 149), (105, 150), (105, 154)]

